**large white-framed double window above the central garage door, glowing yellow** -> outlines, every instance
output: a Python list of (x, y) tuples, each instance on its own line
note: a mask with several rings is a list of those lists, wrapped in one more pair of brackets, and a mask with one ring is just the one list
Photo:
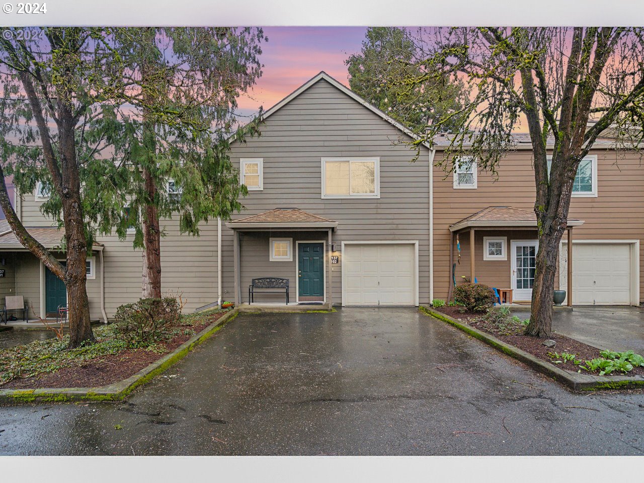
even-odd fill
[(380, 158), (322, 158), (322, 198), (380, 198)]

